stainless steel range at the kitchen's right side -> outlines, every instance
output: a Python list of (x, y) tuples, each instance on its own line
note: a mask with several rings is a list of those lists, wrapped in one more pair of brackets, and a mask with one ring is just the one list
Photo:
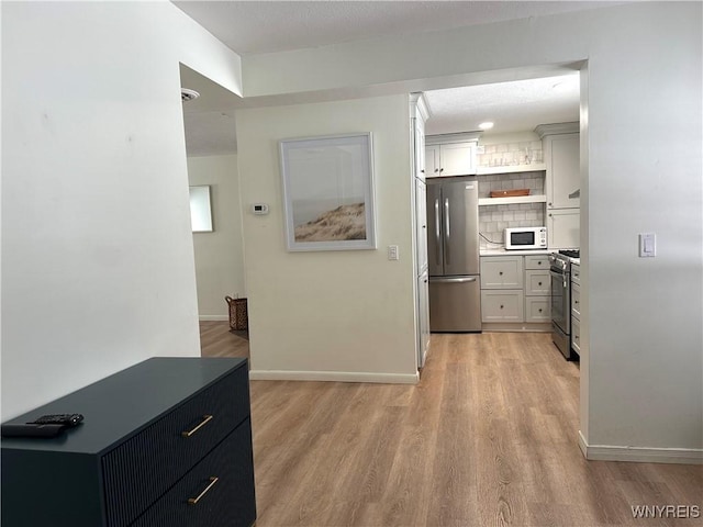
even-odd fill
[(571, 258), (579, 258), (578, 249), (563, 249), (549, 255), (551, 340), (567, 360), (577, 357), (571, 351)]

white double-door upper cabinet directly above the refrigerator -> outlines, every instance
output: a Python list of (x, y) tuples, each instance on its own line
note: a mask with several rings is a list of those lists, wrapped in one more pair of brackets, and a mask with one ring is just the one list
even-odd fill
[(425, 137), (425, 175), (448, 178), (476, 173), (476, 149), (480, 133), (428, 135)]

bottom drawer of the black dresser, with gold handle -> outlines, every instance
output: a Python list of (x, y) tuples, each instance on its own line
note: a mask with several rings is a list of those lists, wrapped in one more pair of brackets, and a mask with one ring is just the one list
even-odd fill
[(132, 527), (249, 527), (255, 519), (252, 428), (246, 419)]

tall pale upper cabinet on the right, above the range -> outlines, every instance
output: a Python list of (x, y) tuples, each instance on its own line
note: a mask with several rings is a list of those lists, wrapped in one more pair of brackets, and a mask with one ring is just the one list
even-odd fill
[(543, 124), (535, 131), (544, 144), (547, 209), (578, 209), (581, 189), (579, 123)]

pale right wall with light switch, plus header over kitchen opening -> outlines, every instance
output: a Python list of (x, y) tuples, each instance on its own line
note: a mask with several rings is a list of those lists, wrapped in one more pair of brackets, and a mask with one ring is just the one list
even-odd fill
[[(587, 59), (581, 429), (593, 456), (614, 447), (632, 459), (629, 447), (641, 447), (700, 459), (701, 19), (700, 2), (634, 2), (247, 56), (244, 89), (390, 93)], [(640, 232), (657, 233), (657, 258), (637, 258)]]

